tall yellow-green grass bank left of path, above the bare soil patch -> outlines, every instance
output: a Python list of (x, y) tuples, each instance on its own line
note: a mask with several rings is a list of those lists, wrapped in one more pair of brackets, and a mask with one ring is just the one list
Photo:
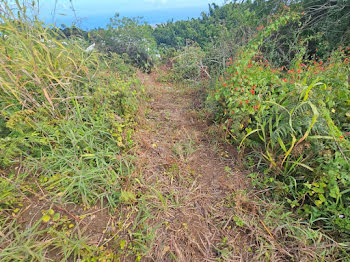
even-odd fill
[(107, 61), (83, 40), (8, 10), (0, 26), (0, 165), (21, 162), (60, 199), (116, 206), (131, 168), (124, 151), (139, 82), (111, 67), (130, 74), (119, 57)]

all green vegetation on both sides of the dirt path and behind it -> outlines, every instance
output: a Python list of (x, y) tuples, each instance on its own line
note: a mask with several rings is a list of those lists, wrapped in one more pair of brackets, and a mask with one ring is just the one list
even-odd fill
[[(196, 90), (198, 114), (222, 130), (212, 140), (247, 170), (250, 193), (220, 202), (232, 215), (217, 230), (249, 235), (239, 252), (250, 261), (349, 259), (347, 1), (231, 1), (154, 28), (116, 14), (90, 32), (45, 25), (16, 3), (0, 4), (1, 261), (155, 257), (167, 224), (151, 213), (173, 193), (146, 185), (133, 135), (149, 99), (137, 72), (159, 68), (158, 81)], [(174, 146), (184, 165), (191, 143)], [(218, 261), (237, 254), (226, 237), (214, 249)]]

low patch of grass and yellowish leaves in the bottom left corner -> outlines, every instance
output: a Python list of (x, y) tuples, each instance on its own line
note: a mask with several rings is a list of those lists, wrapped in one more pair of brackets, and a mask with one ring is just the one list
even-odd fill
[[(60, 217), (53, 210), (45, 212), (41, 220), (24, 230), (15, 222), (1, 224), (4, 232), (0, 236), (1, 261), (76, 261), (97, 251), (71, 226), (73, 224), (67, 216)], [(51, 227), (43, 229), (42, 226), (48, 223), (51, 223)], [(55, 252), (47, 252), (50, 248)]]

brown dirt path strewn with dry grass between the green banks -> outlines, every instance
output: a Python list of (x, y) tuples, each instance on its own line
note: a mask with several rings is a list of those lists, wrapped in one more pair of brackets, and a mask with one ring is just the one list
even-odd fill
[[(156, 74), (139, 77), (149, 101), (135, 135), (138, 172), (153, 192), (150, 223), (157, 228), (146, 260), (241, 261), (234, 254), (242, 253), (244, 236), (233, 230), (232, 199), (245, 185), (234, 152), (211, 135), (196, 89), (159, 83)], [(236, 250), (225, 254), (226, 246)]]

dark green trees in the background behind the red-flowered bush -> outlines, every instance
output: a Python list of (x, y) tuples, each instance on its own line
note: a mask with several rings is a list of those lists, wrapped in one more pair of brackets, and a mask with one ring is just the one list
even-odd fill
[(350, 4), (347, 1), (231, 1), (223, 6), (209, 5), (208, 13), (188, 21), (157, 26), (153, 36), (160, 47), (181, 48), (188, 41), (206, 51), (205, 65), (212, 73), (225, 68), (228, 57), (247, 44), (257, 29), (267, 26), (281, 9), (303, 15), (300, 22), (280, 27), (262, 45), (261, 51), (276, 66), (289, 66), (306, 43), (308, 57), (327, 57), (339, 46), (350, 43)]

